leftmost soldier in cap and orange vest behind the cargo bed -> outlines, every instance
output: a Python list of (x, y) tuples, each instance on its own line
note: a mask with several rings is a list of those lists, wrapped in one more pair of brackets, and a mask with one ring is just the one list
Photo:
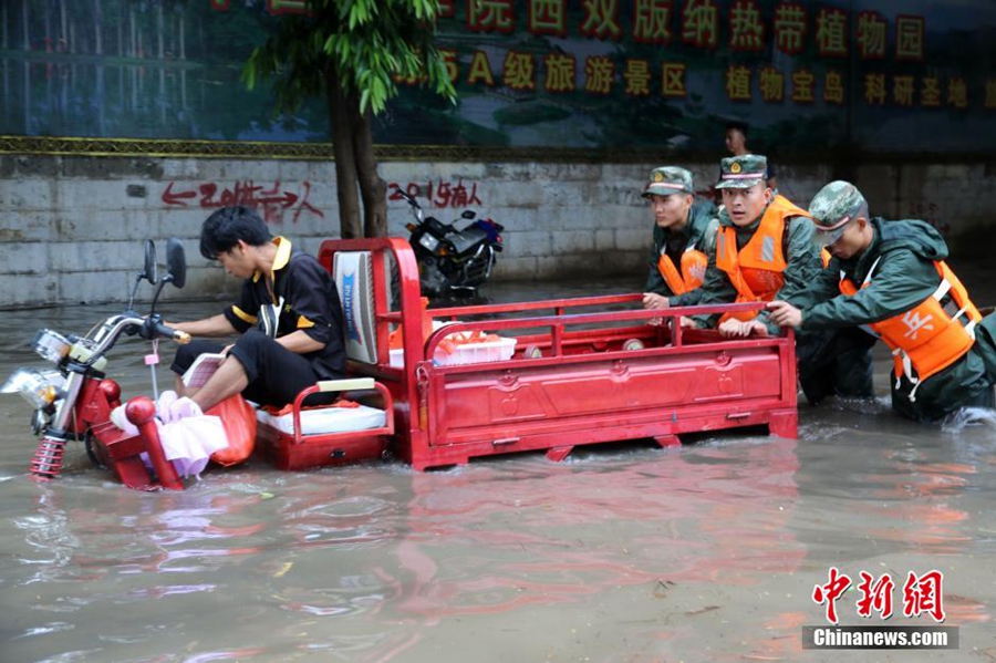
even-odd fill
[(698, 301), (706, 251), (718, 224), (713, 218), (713, 206), (695, 203), (694, 191), (692, 173), (675, 166), (654, 168), (643, 189), (654, 213), (644, 308), (691, 305)]

